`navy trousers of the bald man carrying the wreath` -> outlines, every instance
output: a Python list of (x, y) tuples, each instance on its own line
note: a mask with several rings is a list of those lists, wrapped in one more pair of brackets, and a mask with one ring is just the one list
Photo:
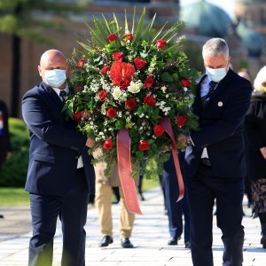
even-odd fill
[(85, 265), (89, 192), (84, 173), (77, 174), (76, 179), (78, 182), (63, 197), (30, 194), (33, 237), (29, 241), (28, 265), (51, 266), (58, 217), (63, 232), (61, 265)]

